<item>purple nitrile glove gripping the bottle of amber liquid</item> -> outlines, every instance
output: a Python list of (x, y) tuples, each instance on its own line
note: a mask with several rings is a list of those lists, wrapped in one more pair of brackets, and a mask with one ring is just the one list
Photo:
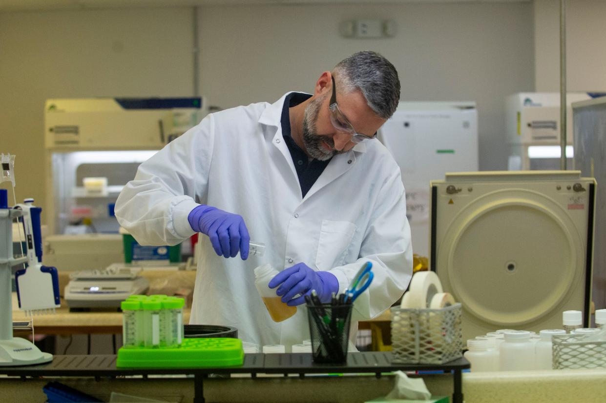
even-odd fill
[[(296, 306), (305, 303), (305, 295), (311, 290), (316, 290), (322, 303), (330, 302), (333, 292), (338, 292), (339, 281), (331, 272), (316, 272), (305, 263), (297, 263), (295, 266), (284, 269), (271, 279), (268, 286), (278, 287), (282, 284), (276, 294), (282, 297), (282, 302), (288, 306)], [(295, 295), (299, 297), (293, 299)]]

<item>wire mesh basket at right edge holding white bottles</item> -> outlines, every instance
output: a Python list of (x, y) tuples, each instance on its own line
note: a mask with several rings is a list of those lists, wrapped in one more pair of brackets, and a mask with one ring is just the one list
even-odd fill
[(553, 369), (606, 368), (606, 341), (587, 341), (588, 335), (553, 335)]

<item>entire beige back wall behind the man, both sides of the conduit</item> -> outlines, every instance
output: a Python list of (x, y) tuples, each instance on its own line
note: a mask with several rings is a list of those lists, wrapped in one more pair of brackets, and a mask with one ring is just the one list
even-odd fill
[[(533, 5), (199, 7), (199, 85), (224, 108), (312, 91), (355, 51), (398, 68), (402, 100), (474, 100), (481, 169), (504, 169), (504, 98), (534, 88)], [(338, 24), (390, 18), (395, 38), (345, 39)], [(17, 198), (45, 205), (43, 106), (51, 97), (191, 96), (193, 9), (0, 13), (0, 151), (17, 155)], [(6, 184), (0, 185), (6, 187)]]

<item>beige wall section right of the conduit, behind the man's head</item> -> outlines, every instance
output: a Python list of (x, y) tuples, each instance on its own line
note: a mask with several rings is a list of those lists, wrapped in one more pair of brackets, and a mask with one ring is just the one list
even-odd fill
[[(476, 101), (480, 168), (505, 169), (504, 99), (534, 88), (532, 14), (531, 3), (203, 7), (201, 91), (224, 108), (273, 102), (312, 91), (355, 51), (379, 51), (402, 100)], [(393, 19), (398, 33), (342, 38), (338, 24), (352, 18)]]

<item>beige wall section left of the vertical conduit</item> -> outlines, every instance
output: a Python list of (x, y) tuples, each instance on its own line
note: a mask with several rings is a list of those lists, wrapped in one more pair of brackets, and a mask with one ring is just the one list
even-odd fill
[(0, 151), (16, 154), (18, 202), (45, 206), (47, 98), (192, 95), (192, 21), (191, 8), (0, 13)]

